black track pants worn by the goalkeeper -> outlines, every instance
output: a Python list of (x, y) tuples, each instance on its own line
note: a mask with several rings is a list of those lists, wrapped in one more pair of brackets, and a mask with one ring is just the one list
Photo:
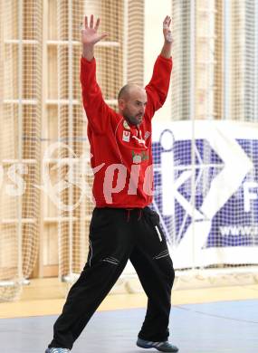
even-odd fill
[(175, 273), (166, 240), (157, 226), (158, 215), (148, 207), (94, 209), (88, 260), (53, 326), (50, 348), (72, 349), (73, 342), (118, 280), (128, 260), (148, 296), (139, 338), (167, 340)]

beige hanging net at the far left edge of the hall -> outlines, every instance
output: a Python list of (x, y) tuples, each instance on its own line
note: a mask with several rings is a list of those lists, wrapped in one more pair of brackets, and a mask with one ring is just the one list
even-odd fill
[(42, 8), (0, 2), (0, 301), (14, 300), (38, 252)]

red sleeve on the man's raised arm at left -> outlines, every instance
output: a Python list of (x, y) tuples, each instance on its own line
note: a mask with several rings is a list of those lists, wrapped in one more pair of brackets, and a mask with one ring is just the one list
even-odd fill
[(110, 119), (112, 111), (103, 99), (100, 86), (96, 80), (96, 61), (95, 58), (89, 62), (81, 57), (81, 89), (83, 107), (87, 115), (91, 128), (104, 132), (107, 120)]

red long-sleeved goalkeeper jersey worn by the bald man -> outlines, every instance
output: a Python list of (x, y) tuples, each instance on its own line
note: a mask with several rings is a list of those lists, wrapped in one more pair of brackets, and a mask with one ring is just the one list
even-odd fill
[(88, 118), (93, 196), (97, 207), (143, 208), (152, 202), (151, 119), (167, 98), (172, 59), (159, 55), (146, 86), (147, 106), (139, 129), (103, 100), (96, 62), (81, 58), (83, 106)]

